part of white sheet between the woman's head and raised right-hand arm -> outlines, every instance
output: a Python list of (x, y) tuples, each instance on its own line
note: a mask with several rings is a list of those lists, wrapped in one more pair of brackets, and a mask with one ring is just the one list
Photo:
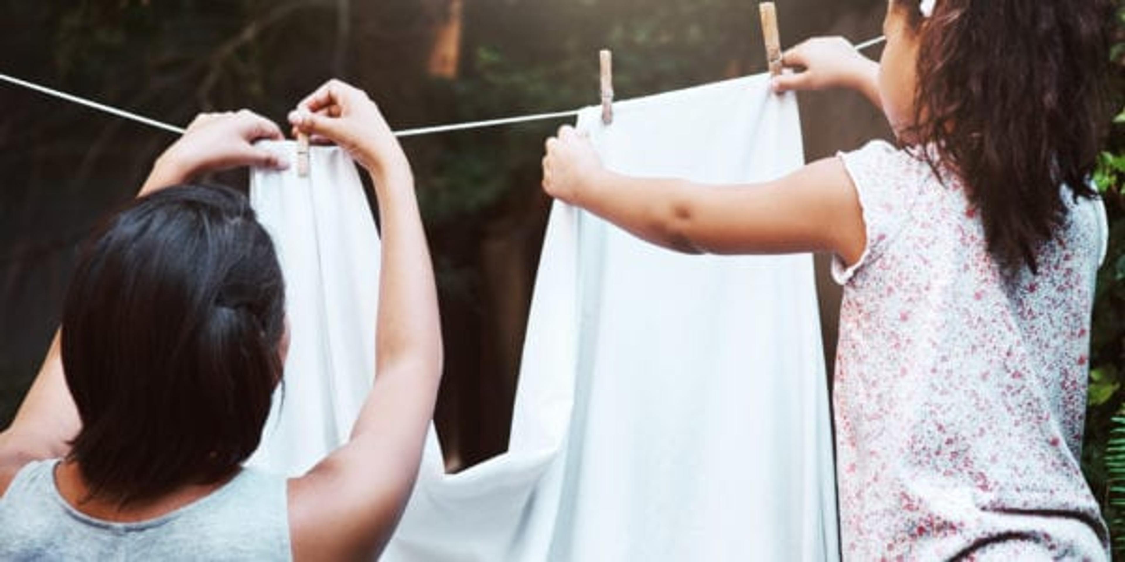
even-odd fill
[[(261, 146), (296, 162), (296, 143)], [(375, 373), (379, 235), (356, 164), (313, 146), (309, 173), (255, 169), (250, 202), (286, 281), (289, 355), (248, 464), (302, 474), (346, 441)]]

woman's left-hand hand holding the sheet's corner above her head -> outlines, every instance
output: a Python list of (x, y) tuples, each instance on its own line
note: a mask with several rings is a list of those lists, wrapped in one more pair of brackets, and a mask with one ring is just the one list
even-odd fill
[(141, 194), (183, 183), (192, 176), (238, 166), (285, 169), (281, 156), (253, 145), (254, 140), (284, 138), (273, 121), (243, 109), (200, 114), (187, 132), (156, 158)]

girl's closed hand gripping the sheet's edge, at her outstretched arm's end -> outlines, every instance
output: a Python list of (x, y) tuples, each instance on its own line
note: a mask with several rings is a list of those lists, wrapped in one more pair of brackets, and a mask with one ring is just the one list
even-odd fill
[(585, 135), (574, 127), (559, 127), (557, 136), (547, 139), (547, 155), (543, 156), (543, 190), (547, 194), (575, 203), (582, 190), (596, 183), (603, 172), (601, 158)]

